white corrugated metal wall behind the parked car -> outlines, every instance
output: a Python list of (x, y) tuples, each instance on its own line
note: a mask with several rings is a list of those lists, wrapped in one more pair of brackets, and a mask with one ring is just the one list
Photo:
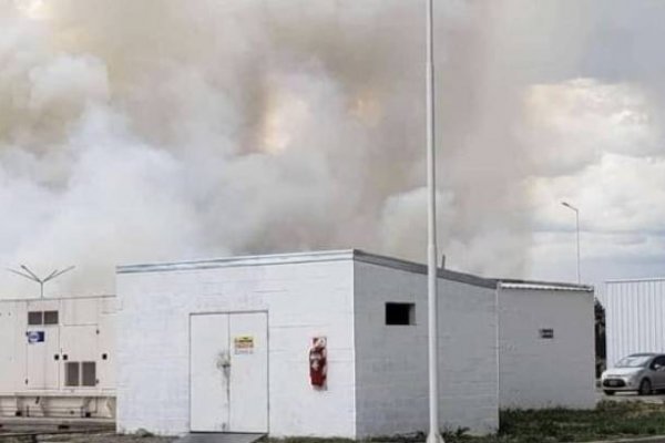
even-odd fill
[(665, 278), (605, 284), (607, 367), (634, 352), (665, 352)]

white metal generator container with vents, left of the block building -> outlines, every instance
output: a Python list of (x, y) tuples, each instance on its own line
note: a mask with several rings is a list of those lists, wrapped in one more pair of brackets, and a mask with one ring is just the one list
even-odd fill
[(0, 416), (113, 418), (115, 300), (0, 300)]

